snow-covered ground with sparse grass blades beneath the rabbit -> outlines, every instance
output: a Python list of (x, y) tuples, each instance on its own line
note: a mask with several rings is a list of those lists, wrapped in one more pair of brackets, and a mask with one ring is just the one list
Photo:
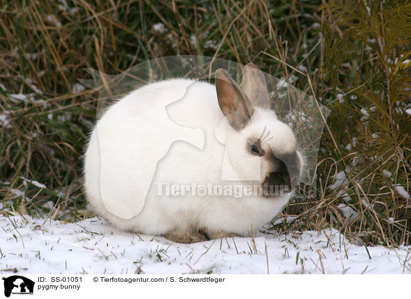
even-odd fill
[(0, 274), (411, 273), (411, 247), (356, 246), (337, 230), (179, 244), (97, 218), (0, 216), (0, 226)]

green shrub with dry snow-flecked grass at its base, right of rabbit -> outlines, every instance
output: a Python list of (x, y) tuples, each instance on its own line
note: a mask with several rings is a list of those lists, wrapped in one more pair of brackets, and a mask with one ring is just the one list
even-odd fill
[[(338, 0), (321, 9), (321, 96), (332, 110), (321, 213), (362, 241), (410, 244), (411, 4)], [(337, 183), (325, 183), (329, 169)]]

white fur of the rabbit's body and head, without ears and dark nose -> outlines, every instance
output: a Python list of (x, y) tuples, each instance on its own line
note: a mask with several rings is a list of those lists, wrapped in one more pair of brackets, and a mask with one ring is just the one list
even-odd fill
[[(185, 93), (184, 98), (177, 101)], [(112, 206), (125, 215), (131, 213), (129, 210), (132, 210), (130, 206), (134, 204), (133, 198), (140, 192), (139, 180), (146, 178), (140, 167), (142, 161), (161, 147), (162, 140), (170, 139), (167, 136), (170, 131), (159, 130), (162, 125), (169, 125), (170, 119), (157, 118), (151, 128), (143, 125), (151, 121), (142, 117), (147, 115), (147, 109), (159, 107), (166, 107), (166, 113), (175, 123), (192, 129), (201, 128), (205, 138), (204, 147), (200, 150), (183, 141), (172, 143), (169, 152), (158, 162), (140, 213), (129, 219), (118, 217), (110, 213), (101, 200), (101, 178), (104, 177), (105, 182), (105, 202), (112, 202)], [(227, 122), (224, 124), (221, 119), (223, 114), (217, 101), (216, 88), (206, 82), (180, 79), (157, 82), (139, 88), (117, 101), (99, 119), (88, 143), (84, 165), (88, 201), (99, 215), (114, 226), (150, 235), (190, 228), (247, 235), (251, 228), (261, 228), (282, 210), (290, 198), (289, 193), (277, 198), (158, 196), (156, 183), (238, 184), (235, 181), (221, 181), (225, 154), (233, 173), (240, 179), (247, 179), (247, 173), (260, 165), (261, 158), (247, 152), (246, 142), (249, 137), (260, 137), (264, 127), (273, 136), (264, 147), (272, 147), (276, 152), (295, 150), (296, 141), (292, 131), (278, 121), (271, 110), (256, 107), (251, 124), (240, 132), (233, 130)], [(142, 132), (139, 127), (148, 131)], [(224, 132), (221, 135), (224, 139), (222, 142), (216, 139), (216, 128)], [(184, 130), (192, 132), (188, 128), (181, 130), (183, 133)], [(138, 134), (144, 134), (145, 138), (140, 138)], [(190, 142), (190, 138), (188, 141)], [(101, 143), (105, 145), (102, 147)], [(201, 148), (201, 144), (197, 146)], [(125, 147), (134, 150), (127, 150)], [(109, 157), (110, 163), (105, 163), (104, 168), (101, 168), (100, 159), (103, 156)], [(261, 167), (262, 174), (267, 174), (269, 165), (263, 162)], [(264, 176), (261, 180), (264, 180)]]

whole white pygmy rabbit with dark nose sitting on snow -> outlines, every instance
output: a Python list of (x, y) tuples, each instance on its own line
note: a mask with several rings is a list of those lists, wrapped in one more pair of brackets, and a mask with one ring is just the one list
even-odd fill
[[(84, 158), (86, 198), (98, 215), (120, 230), (193, 243), (245, 237), (282, 210), (299, 184), (304, 161), (292, 130), (269, 108), (264, 73), (250, 63), (240, 86), (223, 69), (215, 78), (215, 85), (190, 79), (148, 84), (105, 111)], [(140, 117), (142, 107), (151, 106), (164, 108), (169, 119)], [(170, 120), (182, 131), (166, 130)], [(168, 152), (154, 159), (148, 191), (140, 189), (142, 178), (151, 176), (144, 161), (171, 140)], [(177, 195), (165, 190), (173, 185), (181, 187)], [(239, 185), (265, 191), (285, 187), (240, 197), (203, 192)], [(194, 187), (182, 192), (190, 186), (198, 192)]]

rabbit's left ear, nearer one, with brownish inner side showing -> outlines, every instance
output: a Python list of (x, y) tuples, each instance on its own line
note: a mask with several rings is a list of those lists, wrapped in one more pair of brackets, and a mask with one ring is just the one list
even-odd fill
[(254, 109), (245, 93), (227, 71), (216, 70), (216, 91), (219, 106), (232, 128), (241, 130), (251, 120)]

